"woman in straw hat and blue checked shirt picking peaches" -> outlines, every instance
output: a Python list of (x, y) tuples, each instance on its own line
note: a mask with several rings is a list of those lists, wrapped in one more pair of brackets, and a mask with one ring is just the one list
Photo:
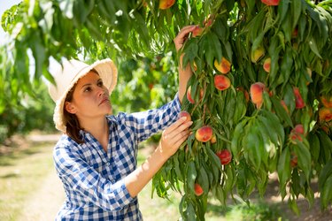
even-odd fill
[[(176, 50), (194, 28), (181, 29), (174, 39)], [(179, 74), (179, 92), (172, 102), (157, 110), (114, 116), (109, 115), (109, 95), (117, 79), (112, 61), (63, 64), (54, 76), (56, 85), (50, 86), (55, 125), (64, 133), (53, 152), (66, 192), (56, 220), (143, 219), (137, 194), (188, 138), (192, 124), (186, 118), (176, 120), (192, 72), (189, 66), (179, 67)], [(160, 130), (158, 148), (136, 167), (138, 143)]]

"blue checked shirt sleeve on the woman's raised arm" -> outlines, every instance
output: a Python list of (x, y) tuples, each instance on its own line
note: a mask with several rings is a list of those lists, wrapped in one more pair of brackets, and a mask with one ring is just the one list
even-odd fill
[(137, 141), (144, 141), (173, 124), (180, 111), (181, 103), (176, 94), (173, 101), (158, 109), (128, 114), (124, 123), (131, 127)]

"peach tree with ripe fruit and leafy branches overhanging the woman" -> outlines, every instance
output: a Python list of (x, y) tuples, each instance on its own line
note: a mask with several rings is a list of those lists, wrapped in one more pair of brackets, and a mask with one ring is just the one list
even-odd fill
[[(172, 40), (189, 24), (197, 28), (176, 54)], [(24, 1), (2, 25), (12, 95), (52, 81), (50, 57), (184, 54), (193, 133), (152, 180), (160, 197), (181, 193), (184, 219), (204, 220), (211, 195), (222, 205), (264, 196), (273, 172), (295, 212), (299, 195), (313, 203), (313, 179), (321, 208), (332, 202), (332, 1)]]

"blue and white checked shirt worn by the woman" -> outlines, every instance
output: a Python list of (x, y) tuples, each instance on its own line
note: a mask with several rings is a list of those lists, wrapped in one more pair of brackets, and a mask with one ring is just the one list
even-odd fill
[(107, 153), (90, 133), (81, 131), (83, 144), (63, 135), (53, 151), (66, 192), (56, 220), (143, 220), (124, 178), (136, 168), (138, 143), (174, 123), (180, 110), (176, 95), (157, 110), (107, 116)]

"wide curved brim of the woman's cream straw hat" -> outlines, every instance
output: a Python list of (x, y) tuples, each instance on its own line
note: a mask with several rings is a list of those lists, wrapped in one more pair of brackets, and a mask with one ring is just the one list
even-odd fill
[(66, 133), (66, 121), (64, 118), (64, 105), (66, 100), (66, 95), (73, 88), (73, 86), (84, 77), (87, 73), (89, 73), (92, 69), (96, 70), (103, 80), (104, 86), (108, 89), (109, 95), (112, 94), (113, 89), (116, 86), (118, 79), (118, 70), (116, 66), (113, 64), (112, 60), (109, 58), (99, 60), (92, 65), (87, 65), (82, 68), (79, 72), (77, 72), (76, 76), (73, 78), (69, 86), (64, 91), (63, 95), (56, 102), (56, 107), (54, 109), (53, 120), (56, 128)]

